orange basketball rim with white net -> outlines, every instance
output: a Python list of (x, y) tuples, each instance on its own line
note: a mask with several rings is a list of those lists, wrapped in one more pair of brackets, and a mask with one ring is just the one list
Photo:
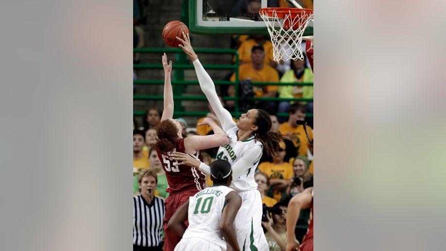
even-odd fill
[(313, 10), (300, 8), (261, 8), (260, 17), (265, 21), (273, 43), (274, 61), (304, 60), (302, 35), (311, 19)]

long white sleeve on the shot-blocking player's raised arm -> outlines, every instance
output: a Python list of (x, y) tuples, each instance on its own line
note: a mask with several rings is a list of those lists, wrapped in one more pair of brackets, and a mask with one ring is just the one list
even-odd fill
[(195, 72), (197, 73), (198, 82), (200, 83), (200, 88), (205, 93), (209, 104), (215, 112), (218, 120), (222, 125), (223, 131), (226, 131), (228, 128), (233, 126), (234, 121), (232, 120), (231, 113), (223, 108), (220, 99), (218, 98), (217, 91), (215, 90), (214, 82), (203, 66), (200, 63), (200, 60), (196, 59), (193, 61), (193, 65), (195, 67)]

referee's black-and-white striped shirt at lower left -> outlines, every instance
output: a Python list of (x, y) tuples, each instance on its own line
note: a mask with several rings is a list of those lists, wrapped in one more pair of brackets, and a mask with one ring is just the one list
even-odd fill
[(138, 195), (133, 197), (133, 244), (156, 247), (161, 244), (164, 200), (154, 196), (152, 204)]

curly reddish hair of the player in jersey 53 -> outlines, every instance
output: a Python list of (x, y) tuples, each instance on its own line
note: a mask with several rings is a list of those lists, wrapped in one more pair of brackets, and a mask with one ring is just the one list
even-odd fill
[(167, 153), (173, 150), (175, 142), (178, 140), (178, 128), (170, 120), (163, 120), (156, 128), (156, 143), (154, 147), (161, 152)]

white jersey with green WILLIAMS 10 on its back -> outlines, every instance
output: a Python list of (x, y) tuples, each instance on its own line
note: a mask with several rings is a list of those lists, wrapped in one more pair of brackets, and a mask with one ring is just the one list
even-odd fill
[(226, 241), (220, 233), (218, 224), (222, 218), (226, 195), (234, 191), (227, 186), (207, 187), (189, 197), (189, 227), (183, 239), (204, 238), (226, 250)]

